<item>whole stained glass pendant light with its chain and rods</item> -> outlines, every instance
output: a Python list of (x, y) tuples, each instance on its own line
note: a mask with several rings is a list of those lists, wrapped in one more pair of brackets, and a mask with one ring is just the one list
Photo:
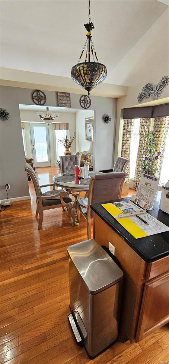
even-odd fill
[[(93, 90), (99, 83), (105, 80), (107, 76), (106, 66), (102, 63), (98, 63), (97, 54), (93, 45), (91, 31), (94, 29), (93, 23), (90, 22), (90, 0), (89, 0), (89, 22), (84, 24), (87, 30), (87, 39), (83, 50), (80, 54), (80, 58), (78, 63), (72, 67), (71, 78), (78, 85), (83, 87), (86, 91), (88, 91), (88, 95), (90, 91)], [(86, 50), (85, 62), (80, 63), (81, 57), (83, 56), (84, 51)], [(88, 58), (87, 58), (88, 57)], [(92, 62), (90, 61), (90, 57), (93, 58)], [(95, 62), (96, 59), (96, 62)]]

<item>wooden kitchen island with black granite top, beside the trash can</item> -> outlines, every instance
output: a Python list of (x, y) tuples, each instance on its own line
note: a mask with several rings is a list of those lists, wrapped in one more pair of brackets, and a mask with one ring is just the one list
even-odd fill
[[(168, 215), (159, 210), (160, 197), (161, 192), (149, 213), (168, 225)], [(138, 343), (169, 321), (168, 232), (135, 239), (101, 203), (91, 208), (93, 238), (107, 248), (109, 242), (113, 245), (124, 275), (118, 340)]]

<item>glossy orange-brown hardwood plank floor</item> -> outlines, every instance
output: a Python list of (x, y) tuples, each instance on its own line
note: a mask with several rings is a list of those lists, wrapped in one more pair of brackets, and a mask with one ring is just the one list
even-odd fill
[[(39, 184), (52, 182), (56, 173), (55, 167), (39, 168)], [(76, 345), (67, 320), (67, 246), (87, 239), (86, 221), (81, 217), (79, 226), (71, 226), (67, 211), (48, 210), (38, 231), (31, 182), (29, 188), (31, 201), (13, 202), (0, 213), (0, 363), (159, 364), (169, 360), (167, 326), (137, 344), (115, 343), (94, 360)]]

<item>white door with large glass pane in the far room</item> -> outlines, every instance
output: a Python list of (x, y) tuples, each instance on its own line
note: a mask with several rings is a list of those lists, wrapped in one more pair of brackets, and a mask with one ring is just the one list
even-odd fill
[(32, 153), (35, 167), (50, 167), (50, 145), (47, 124), (30, 123)]

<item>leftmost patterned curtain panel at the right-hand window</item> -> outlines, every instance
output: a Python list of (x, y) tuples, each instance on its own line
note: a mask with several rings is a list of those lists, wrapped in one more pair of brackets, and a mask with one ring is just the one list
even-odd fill
[[(123, 123), (123, 137), (122, 137), (122, 151), (121, 157), (130, 159), (130, 142), (134, 119), (124, 119)], [(130, 164), (126, 168), (126, 173), (129, 175)]]

